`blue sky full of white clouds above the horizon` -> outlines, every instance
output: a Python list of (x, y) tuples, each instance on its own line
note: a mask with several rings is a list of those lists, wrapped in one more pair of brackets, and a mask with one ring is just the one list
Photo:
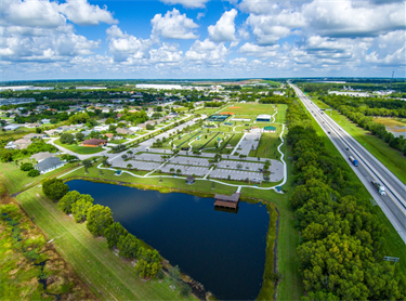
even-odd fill
[(0, 80), (405, 77), (400, 0), (1, 0)]

